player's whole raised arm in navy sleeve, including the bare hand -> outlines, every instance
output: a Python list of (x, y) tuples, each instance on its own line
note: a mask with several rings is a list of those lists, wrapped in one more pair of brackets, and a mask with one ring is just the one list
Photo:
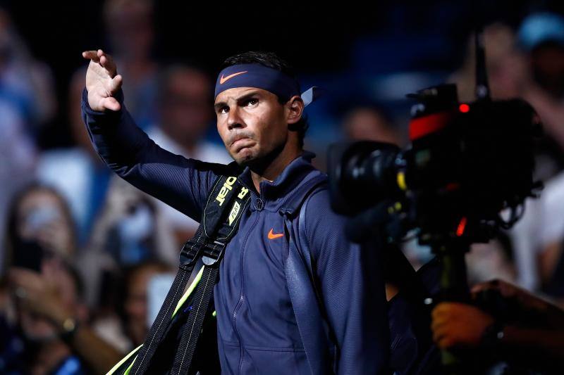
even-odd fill
[(154, 143), (123, 105), (121, 75), (102, 50), (90, 59), (82, 92), (82, 118), (94, 149), (118, 176), (199, 221), (202, 203), (225, 165), (170, 153)]

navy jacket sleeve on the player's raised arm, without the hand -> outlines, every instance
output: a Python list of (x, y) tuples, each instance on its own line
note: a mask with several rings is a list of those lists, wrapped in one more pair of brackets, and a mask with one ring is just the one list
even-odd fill
[(216, 176), (228, 167), (164, 150), (135, 125), (121, 91), (118, 101), (121, 110), (97, 112), (82, 91), (82, 119), (94, 149), (119, 177), (199, 222)]

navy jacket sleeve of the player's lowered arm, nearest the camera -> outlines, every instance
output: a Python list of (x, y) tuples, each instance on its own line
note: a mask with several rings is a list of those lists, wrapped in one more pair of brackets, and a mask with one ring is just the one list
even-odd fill
[(346, 239), (346, 219), (331, 210), (327, 191), (310, 198), (305, 215), (312, 267), (338, 348), (338, 374), (384, 373), (389, 328), (378, 249)]

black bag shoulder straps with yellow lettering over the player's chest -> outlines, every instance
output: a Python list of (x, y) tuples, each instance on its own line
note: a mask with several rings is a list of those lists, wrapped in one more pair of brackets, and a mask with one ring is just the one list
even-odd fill
[(194, 296), (194, 299), (198, 300), (198, 306), (202, 309), (198, 317), (195, 317), (196, 314), (189, 314), (187, 322), (190, 324), (190, 332), (196, 334), (188, 334), (188, 337), (183, 334), (182, 339), (189, 342), (187, 345), (189, 349), (181, 354), (177, 352), (180, 363), (175, 358), (175, 363), (171, 364), (174, 369), (180, 367), (182, 370), (188, 370), (197, 343), (197, 336), (200, 333), (199, 327), (203, 322), (202, 316), (207, 311), (212, 288), (219, 274), (218, 266), (223, 258), (223, 250), (237, 232), (240, 217), (249, 198), (248, 189), (238, 181), (237, 177), (222, 174), (216, 178), (202, 210), (200, 226), (195, 236), (188, 240), (180, 251), (178, 273), (173, 285), (157, 314), (157, 319), (149, 329), (145, 343), (138, 350), (133, 364), (128, 367), (130, 374), (145, 374), (149, 369), (152, 357), (166, 335), (173, 313), (178, 310), (178, 303), (183, 297), (183, 291), (188, 284), (192, 270), (198, 260), (202, 259), (206, 266), (202, 279), (207, 281), (207, 286), (200, 288), (201, 283), (198, 283)]

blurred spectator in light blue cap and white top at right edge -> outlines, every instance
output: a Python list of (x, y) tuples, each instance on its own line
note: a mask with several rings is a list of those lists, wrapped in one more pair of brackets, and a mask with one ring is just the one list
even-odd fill
[(524, 217), (511, 231), (518, 281), (529, 290), (542, 288), (553, 297), (564, 298), (560, 209), (564, 193), (564, 18), (553, 13), (529, 15), (518, 38), (529, 62), (522, 96), (544, 125), (536, 174), (546, 182), (541, 198), (526, 203)]

